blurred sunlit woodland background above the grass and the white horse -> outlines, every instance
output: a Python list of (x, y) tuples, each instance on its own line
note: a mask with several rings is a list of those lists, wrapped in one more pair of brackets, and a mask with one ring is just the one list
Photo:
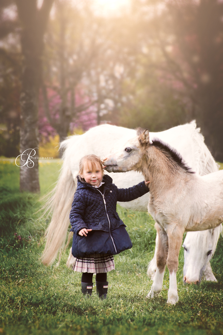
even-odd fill
[(196, 119), (223, 162), (222, 0), (1, 0), (5, 157), (19, 154), (31, 53), (39, 147), (48, 154), (102, 123), (157, 132)]

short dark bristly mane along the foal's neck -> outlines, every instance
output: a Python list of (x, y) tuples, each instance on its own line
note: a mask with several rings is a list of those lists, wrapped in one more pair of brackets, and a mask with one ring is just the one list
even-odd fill
[(180, 168), (183, 168), (188, 173), (194, 173), (194, 171), (187, 166), (179, 152), (171, 148), (167, 143), (163, 143), (158, 138), (154, 138), (152, 142), (152, 146), (159, 148), (166, 156), (171, 157)]

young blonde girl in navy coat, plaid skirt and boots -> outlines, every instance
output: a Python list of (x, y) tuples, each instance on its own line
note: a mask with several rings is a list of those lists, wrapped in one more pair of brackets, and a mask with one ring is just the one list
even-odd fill
[(149, 182), (129, 188), (117, 188), (104, 175), (102, 161), (96, 155), (80, 160), (77, 190), (70, 211), (73, 235), (74, 271), (82, 272), (82, 293), (92, 294), (93, 273), (99, 298), (108, 292), (107, 272), (114, 269), (113, 255), (132, 247), (125, 224), (116, 212), (117, 201), (131, 201), (149, 192)]

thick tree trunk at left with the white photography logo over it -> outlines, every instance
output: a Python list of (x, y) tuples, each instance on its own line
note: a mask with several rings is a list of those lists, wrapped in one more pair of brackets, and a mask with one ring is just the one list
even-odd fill
[[(53, 0), (44, 0), (37, 8), (36, 0), (16, 0), (22, 25), (23, 55), (21, 78), (20, 191), (40, 191), (38, 156), (38, 95), (42, 74), (43, 36)], [(32, 157), (31, 157), (32, 156)]]

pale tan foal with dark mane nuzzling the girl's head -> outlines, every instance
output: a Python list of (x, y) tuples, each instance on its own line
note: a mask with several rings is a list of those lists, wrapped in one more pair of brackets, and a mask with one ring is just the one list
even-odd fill
[(167, 303), (178, 301), (176, 271), (185, 231), (216, 228), (223, 222), (223, 170), (196, 175), (182, 157), (148, 130), (128, 140), (119, 151), (104, 160), (109, 172), (140, 171), (150, 180), (148, 210), (159, 235), (157, 270), (148, 294), (153, 298), (162, 289), (165, 267), (170, 273)]

